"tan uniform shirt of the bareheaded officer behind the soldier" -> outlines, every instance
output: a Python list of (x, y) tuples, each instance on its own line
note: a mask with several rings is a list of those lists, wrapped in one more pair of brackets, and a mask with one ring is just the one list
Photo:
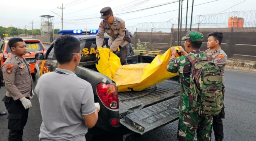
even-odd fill
[(225, 84), (224, 70), (227, 63), (226, 53), (219, 47), (216, 51), (212, 52), (211, 48), (204, 51), (204, 53), (211, 55), (214, 58), (214, 63), (219, 66), (222, 75), (222, 82)]

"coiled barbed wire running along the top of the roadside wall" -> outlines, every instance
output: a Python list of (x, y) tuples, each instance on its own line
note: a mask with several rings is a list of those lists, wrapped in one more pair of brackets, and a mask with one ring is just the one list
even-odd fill
[[(197, 15), (192, 18), (192, 25), (200, 24), (212, 24), (212, 23), (228, 23), (229, 17), (244, 18), (244, 22), (256, 22), (256, 10), (250, 11), (233, 11), (224, 13), (214, 13), (207, 15)], [(190, 25), (190, 16), (187, 17), (187, 27)], [(182, 17), (182, 28), (185, 28), (186, 17)], [(160, 29), (160, 28), (177, 28), (178, 18), (172, 18), (167, 22), (145, 22), (137, 23), (134, 26), (126, 27), (129, 31), (135, 32), (137, 29)]]

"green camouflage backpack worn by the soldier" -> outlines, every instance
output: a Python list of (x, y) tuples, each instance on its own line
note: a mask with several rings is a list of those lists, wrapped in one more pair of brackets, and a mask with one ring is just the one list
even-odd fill
[(189, 104), (201, 116), (215, 116), (223, 107), (224, 85), (221, 71), (213, 60), (186, 55), (192, 64), (189, 86)]

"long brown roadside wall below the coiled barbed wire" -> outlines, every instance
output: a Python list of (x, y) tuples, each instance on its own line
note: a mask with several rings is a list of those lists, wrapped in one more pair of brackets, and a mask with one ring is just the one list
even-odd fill
[[(230, 28), (229, 28), (230, 29)], [(201, 46), (201, 51), (207, 49), (207, 34), (217, 29), (204, 31), (200, 28), (204, 35), (204, 41)], [(200, 32), (199, 30), (199, 32)], [(182, 36), (185, 31), (182, 31)], [(224, 50), (228, 58), (256, 61), (256, 32), (223, 32), (224, 38), (222, 40), (221, 48)], [(147, 43), (148, 48), (166, 51), (168, 48), (177, 45), (177, 31), (171, 33), (145, 33), (138, 32), (133, 36), (132, 44), (135, 46), (140, 39), (141, 43)], [(136, 41), (135, 41), (136, 40)], [(183, 45), (184, 42), (181, 43)]]

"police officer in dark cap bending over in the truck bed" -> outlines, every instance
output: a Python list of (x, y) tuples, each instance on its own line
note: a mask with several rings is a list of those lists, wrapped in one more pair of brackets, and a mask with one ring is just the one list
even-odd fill
[[(110, 37), (108, 46), (110, 51), (116, 51), (118, 47), (121, 53), (121, 65), (127, 64), (127, 56), (130, 54), (128, 41), (124, 40), (125, 37), (125, 21), (121, 18), (114, 17), (110, 7), (104, 7), (100, 11), (103, 20), (99, 23), (99, 30), (96, 35), (97, 47), (103, 45), (104, 32)], [(98, 51), (96, 51), (98, 53)]]

